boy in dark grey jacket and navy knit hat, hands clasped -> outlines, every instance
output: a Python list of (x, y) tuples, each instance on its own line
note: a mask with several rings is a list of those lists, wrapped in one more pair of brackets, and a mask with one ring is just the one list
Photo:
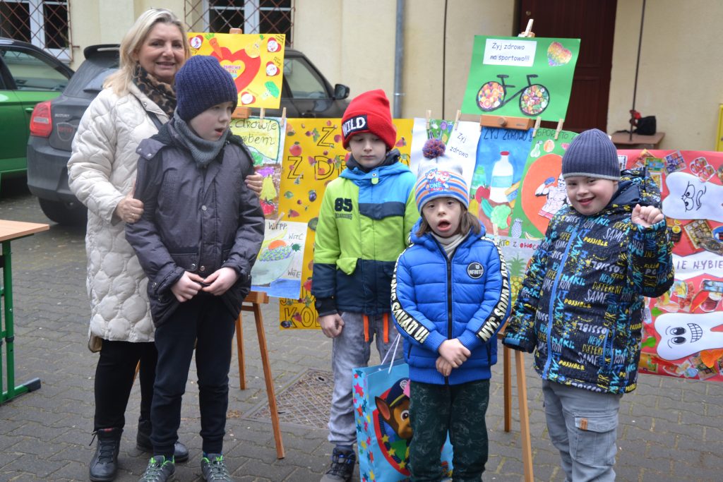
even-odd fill
[(135, 197), (145, 209), (126, 238), (148, 277), (158, 365), (150, 418), (153, 457), (141, 481), (175, 471), (181, 396), (196, 350), (202, 476), (229, 481), (223, 459), (231, 340), (264, 237), (244, 182), (252, 157), (228, 125), (236, 85), (218, 60), (194, 56), (176, 74), (174, 118), (138, 147)]

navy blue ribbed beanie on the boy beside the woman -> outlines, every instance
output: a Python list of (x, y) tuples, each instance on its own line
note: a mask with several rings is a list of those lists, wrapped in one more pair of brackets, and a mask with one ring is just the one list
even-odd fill
[(176, 113), (190, 121), (206, 109), (224, 102), (239, 102), (234, 77), (215, 57), (192, 56), (176, 73)]

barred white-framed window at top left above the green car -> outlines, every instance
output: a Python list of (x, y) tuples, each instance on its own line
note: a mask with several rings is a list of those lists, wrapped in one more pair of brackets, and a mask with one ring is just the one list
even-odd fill
[(0, 37), (23, 40), (70, 61), (68, 0), (0, 1)]

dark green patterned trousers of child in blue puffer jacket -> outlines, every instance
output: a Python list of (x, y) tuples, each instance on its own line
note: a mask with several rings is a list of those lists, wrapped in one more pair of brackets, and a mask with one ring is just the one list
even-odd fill
[(440, 452), (447, 431), (453, 447), (455, 482), (479, 482), (487, 462), (489, 380), (461, 385), (411, 382), (409, 470), (414, 482), (440, 481)]

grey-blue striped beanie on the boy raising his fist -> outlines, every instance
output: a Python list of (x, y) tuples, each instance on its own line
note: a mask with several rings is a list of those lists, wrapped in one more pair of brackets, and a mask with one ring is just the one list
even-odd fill
[(562, 178), (570, 176), (590, 176), (612, 181), (620, 179), (617, 150), (607, 134), (599, 129), (590, 129), (570, 142), (562, 155)]

